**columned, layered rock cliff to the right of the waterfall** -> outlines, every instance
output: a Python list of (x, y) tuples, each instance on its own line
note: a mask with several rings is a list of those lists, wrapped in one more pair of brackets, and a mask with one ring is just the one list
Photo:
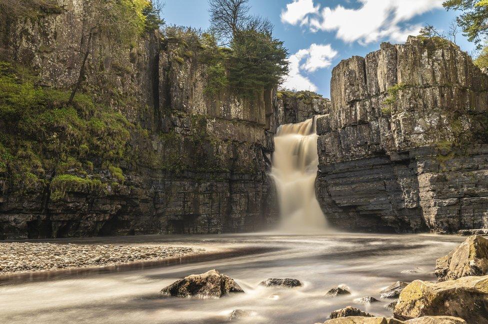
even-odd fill
[(317, 199), (336, 227), (488, 226), (488, 76), (445, 40), (409, 37), (333, 69), (317, 120)]

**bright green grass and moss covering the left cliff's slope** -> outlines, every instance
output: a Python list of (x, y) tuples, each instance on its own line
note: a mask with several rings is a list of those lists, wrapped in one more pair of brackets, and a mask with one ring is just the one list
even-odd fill
[[(83, 173), (93, 162), (123, 160), (134, 126), (85, 94), (68, 105), (69, 94), (0, 62), (0, 176), (9, 183), (31, 187), (46, 173)], [(121, 179), (119, 172), (114, 177)]]

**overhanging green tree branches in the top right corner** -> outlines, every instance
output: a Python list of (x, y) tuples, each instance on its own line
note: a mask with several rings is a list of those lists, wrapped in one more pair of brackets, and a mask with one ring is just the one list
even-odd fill
[(443, 6), (449, 10), (461, 10), (457, 23), (469, 41), (482, 47), (481, 42), (488, 36), (488, 0), (446, 0)]

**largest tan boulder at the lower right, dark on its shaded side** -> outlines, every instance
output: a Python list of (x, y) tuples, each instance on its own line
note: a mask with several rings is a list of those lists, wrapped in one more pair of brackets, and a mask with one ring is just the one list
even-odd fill
[(454, 316), (467, 323), (488, 324), (488, 276), (431, 283), (415, 280), (400, 293), (395, 318)]

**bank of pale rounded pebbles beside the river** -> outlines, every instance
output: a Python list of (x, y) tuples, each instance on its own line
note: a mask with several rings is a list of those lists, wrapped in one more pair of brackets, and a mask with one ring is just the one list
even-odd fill
[(0, 275), (158, 261), (202, 251), (158, 245), (0, 243)]

